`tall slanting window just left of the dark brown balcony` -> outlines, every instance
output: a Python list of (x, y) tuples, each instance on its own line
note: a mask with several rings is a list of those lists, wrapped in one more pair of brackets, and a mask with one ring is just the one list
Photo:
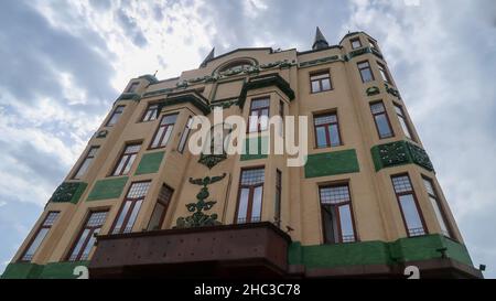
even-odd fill
[(69, 252), (69, 261), (87, 260), (89, 254), (95, 246), (96, 235), (100, 233), (101, 226), (107, 218), (107, 211), (90, 212), (86, 223), (80, 230), (72, 251)]

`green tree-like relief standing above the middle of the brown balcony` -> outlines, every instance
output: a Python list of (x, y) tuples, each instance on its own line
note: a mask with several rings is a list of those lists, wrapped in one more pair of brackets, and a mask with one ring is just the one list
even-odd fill
[(197, 202), (186, 204), (186, 208), (192, 213), (192, 215), (177, 218), (176, 226), (174, 228), (182, 229), (220, 225), (220, 222), (217, 221), (217, 214), (214, 213), (208, 215), (204, 212), (212, 209), (212, 207), (214, 207), (217, 203), (216, 201), (205, 201), (211, 195), (207, 186), (222, 181), (224, 178), (226, 178), (226, 173), (220, 176), (206, 176), (204, 179), (190, 178), (191, 184), (200, 185), (202, 189), (196, 195)]

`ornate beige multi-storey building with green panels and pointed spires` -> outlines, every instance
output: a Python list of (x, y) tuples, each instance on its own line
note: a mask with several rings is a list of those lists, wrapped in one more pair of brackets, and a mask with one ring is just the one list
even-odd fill
[[(309, 154), (194, 155), (193, 116), (308, 116)], [(250, 120), (248, 122), (248, 120)], [(255, 121), (254, 121), (255, 120)], [(215, 127), (216, 125), (214, 125)], [(263, 144), (263, 143), (261, 143)], [(2, 278), (482, 278), (382, 53), (349, 33), (129, 82)]]

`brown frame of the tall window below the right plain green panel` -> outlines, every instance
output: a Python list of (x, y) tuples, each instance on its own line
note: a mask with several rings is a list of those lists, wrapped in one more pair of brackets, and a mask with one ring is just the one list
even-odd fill
[[(321, 195), (321, 190), (323, 189), (331, 189), (331, 187), (339, 187), (339, 186), (346, 186), (348, 190), (348, 195), (349, 195), (349, 200), (347, 202), (341, 202), (339, 204), (323, 204), (322, 203), (322, 195)], [(356, 223), (355, 223), (355, 214), (354, 214), (354, 209), (353, 209), (353, 197), (352, 197), (352, 189), (349, 187), (349, 182), (334, 182), (334, 183), (327, 183), (327, 184), (322, 184), (319, 185), (319, 208), (321, 211), (321, 227), (322, 227), (322, 243), (325, 245), (337, 245), (337, 244), (353, 244), (353, 243), (357, 243), (359, 241), (358, 239), (358, 234), (356, 230)], [(342, 226), (341, 226), (341, 215), (339, 215), (339, 207), (341, 206), (349, 206), (349, 215), (352, 216), (352, 227), (353, 227), (353, 236), (354, 236), (354, 240), (353, 241), (343, 241), (343, 230), (342, 230)], [(336, 225), (337, 225), (337, 233), (338, 233), (338, 237), (337, 240), (338, 241), (333, 241), (330, 243), (326, 240), (326, 232), (325, 232), (325, 225), (324, 225), (324, 211), (323, 211), (323, 206), (331, 206), (334, 209), (334, 214), (337, 217), (336, 221)]]

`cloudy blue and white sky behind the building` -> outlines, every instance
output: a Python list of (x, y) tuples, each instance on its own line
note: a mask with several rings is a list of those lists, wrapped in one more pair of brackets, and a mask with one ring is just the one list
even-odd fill
[(496, 278), (496, 1), (15, 0), (0, 10), (0, 273), (130, 78), (212, 47), (376, 37), (475, 266)]

